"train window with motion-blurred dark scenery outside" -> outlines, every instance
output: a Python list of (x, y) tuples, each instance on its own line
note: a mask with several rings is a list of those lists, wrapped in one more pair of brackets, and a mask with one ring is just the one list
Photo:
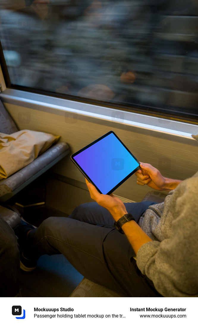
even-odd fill
[(0, 9), (9, 87), (197, 118), (196, 0), (2, 0)]

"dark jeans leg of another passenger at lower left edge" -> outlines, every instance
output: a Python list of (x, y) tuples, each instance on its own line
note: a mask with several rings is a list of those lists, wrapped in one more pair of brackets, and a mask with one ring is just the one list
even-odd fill
[(18, 296), (20, 257), (17, 237), (0, 218), (0, 297)]

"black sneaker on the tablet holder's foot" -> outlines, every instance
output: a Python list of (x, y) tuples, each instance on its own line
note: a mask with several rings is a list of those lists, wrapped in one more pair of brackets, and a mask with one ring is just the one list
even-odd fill
[(21, 224), (14, 231), (18, 237), (18, 244), (20, 250), (20, 268), (24, 271), (32, 271), (36, 268), (37, 259), (31, 255), (31, 250), (27, 242), (27, 232), (33, 230), (35, 227), (21, 220)]

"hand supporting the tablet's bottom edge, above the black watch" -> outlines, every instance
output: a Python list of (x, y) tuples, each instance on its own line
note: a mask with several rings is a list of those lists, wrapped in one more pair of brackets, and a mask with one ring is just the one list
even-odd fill
[(95, 200), (101, 207), (106, 208), (116, 221), (123, 215), (127, 214), (124, 203), (115, 197), (113, 193), (110, 195), (100, 194), (95, 186), (87, 181), (86, 178), (85, 181), (91, 198)]

